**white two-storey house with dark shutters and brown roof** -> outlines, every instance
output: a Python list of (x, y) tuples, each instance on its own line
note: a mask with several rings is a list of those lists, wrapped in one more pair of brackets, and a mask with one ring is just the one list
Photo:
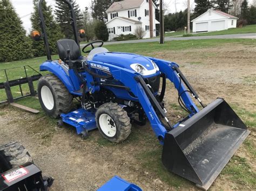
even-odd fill
[[(152, 3), (152, 30), (153, 37), (156, 37), (157, 7)], [(149, 0), (124, 0), (114, 2), (107, 9), (107, 30), (109, 31), (109, 40), (120, 34), (134, 34), (138, 26), (146, 31), (144, 38), (150, 38), (150, 3)]]

